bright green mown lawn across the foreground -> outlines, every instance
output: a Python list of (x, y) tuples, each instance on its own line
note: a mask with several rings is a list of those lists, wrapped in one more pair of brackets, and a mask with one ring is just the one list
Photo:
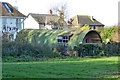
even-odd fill
[(118, 78), (118, 57), (3, 62), (3, 78)]

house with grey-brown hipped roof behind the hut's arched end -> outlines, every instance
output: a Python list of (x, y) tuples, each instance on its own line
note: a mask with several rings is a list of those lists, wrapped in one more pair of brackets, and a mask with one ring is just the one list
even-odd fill
[(104, 24), (94, 19), (93, 16), (91, 17), (88, 15), (76, 15), (68, 20), (69, 28), (79, 28), (83, 27), (85, 24), (89, 25), (91, 29), (99, 29), (101, 27), (104, 27)]

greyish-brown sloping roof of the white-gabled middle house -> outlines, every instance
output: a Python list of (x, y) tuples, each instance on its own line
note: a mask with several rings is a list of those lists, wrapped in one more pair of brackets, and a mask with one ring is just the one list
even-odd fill
[(34, 14), (30, 13), (31, 15), (39, 24), (44, 24), (47, 22), (47, 24), (50, 24), (50, 22), (57, 22), (58, 16), (55, 14)]

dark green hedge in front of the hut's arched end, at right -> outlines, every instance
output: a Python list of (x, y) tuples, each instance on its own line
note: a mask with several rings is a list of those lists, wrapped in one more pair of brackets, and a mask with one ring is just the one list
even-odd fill
[(80, 44), (74, 47), (78, 56), (119, 56), (120, 43), (111, 44)]

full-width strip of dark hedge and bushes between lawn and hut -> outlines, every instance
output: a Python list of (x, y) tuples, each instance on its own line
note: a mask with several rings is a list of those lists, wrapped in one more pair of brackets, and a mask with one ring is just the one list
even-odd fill
[(28, 62), (41, 61), (56, 58), (68, 58), (73, 56), (103, 57), (119, 56), (118, 43), (113, 44), (79, 44), (69, 47), (58, 45), (50, 48), (47, 45), (33, 45), (30, 43), (7, 42), (2, 46), (3, 61)]

